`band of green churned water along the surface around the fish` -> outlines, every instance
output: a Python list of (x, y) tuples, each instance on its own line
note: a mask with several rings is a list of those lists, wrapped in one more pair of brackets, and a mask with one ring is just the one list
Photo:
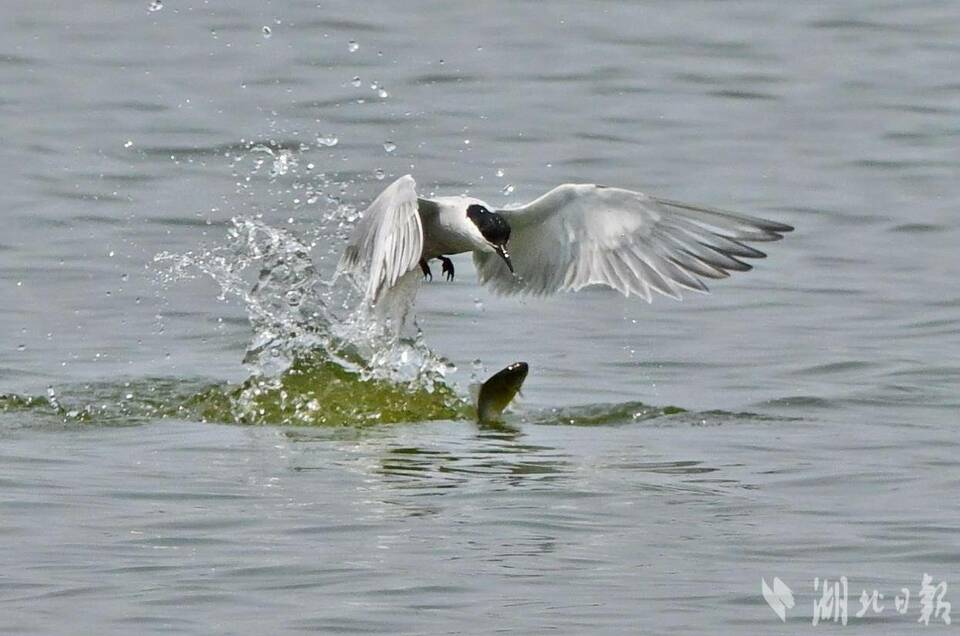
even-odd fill
[[(0, 395), (0, 413), (19, 411), (98, 424), (178, 418), (230, 424), (365, 426), (476, 419), (475, 405), (447, 384), (366, 379), (319, 352), (298, 358), (277, 377), (253, 376), (240, 384), (153, 378), (52, 389), (47, 397)], [(590, 426), (685, 412), (676, 406), (625, 402), (520, 409), (506, 419)]]

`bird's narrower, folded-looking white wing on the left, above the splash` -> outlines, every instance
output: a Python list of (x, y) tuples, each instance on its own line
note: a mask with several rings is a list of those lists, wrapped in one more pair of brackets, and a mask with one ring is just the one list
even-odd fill
[(417, 184), (406, 175), (390, 184), (364, 212), (343, 251), (338, 271), (365, 274), (365, 296), (376, 302), (383, 290), (417, 266), (422, 251)]

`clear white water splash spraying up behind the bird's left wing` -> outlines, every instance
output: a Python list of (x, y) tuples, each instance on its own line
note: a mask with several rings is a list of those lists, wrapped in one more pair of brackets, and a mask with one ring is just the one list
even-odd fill
[[(337, 213), (320, 219), (339, 227)], [(207, 276), (219, 298), (239, 299), (252, 339), (244, 362), (252, 374), (280, 377), (304, 356), (326, 359), (363, 379), (432, 390), (453, 369), (426, 346), (413, 316), (418, 276), (407, 276), (376, 307), (364, 304), (363, 281), (321, 278), (309, 246), (259, 219), (235, 217), (227, 242), (199, 252), (155, 258), (161, 283)], [(256, 272), (254, 280), (254, 272)]]

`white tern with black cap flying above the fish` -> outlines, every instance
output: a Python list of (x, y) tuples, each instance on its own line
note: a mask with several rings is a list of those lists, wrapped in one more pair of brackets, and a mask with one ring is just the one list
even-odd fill
[[(366, 298), (439, 259), (453, 279), (452, 254), (473, 252), (480, 282), (499, 294), (545, 295), (589, 285), (647, 302), (707, 292), (702, 278), (747, 271), (763, 258), (748, 241), (775, 241), (789, 225), (640, 192), (594, 184), (557, 186), (526, 205), (494, 210), (467, 196), (417, 197), (406, 175), (378, 196), (340, 259), (338, 271), (366, 275)], [(507, 248), (509, 246), (509, 252)]]

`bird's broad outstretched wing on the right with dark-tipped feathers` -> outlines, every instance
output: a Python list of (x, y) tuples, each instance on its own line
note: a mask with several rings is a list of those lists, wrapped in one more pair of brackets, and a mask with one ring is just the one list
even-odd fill
[(706, 292), (701, 278), (746, 271), (762, 258), (747, 241), (793, 228), (713, 208), (593, 184), (566, 184), (498, 213), (511, 227), (516, 276), (496, 254), (474, 252), (480, 282), (500, 294), (551, 294), (606, 285), (622, 294), (680, 298)]

